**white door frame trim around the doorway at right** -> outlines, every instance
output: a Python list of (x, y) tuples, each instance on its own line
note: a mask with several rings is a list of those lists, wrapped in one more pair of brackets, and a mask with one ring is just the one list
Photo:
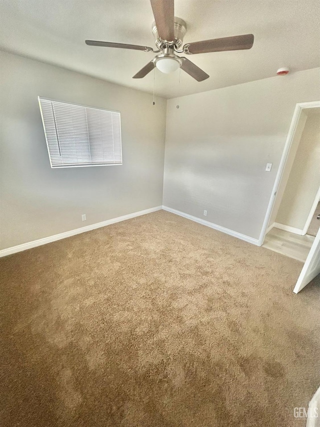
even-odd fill
[(265, 234), (266, 234), (268, 223), (269, 223), (269, 220), (270, 220), (270, 217), (272, 214), (272, 210), (274, 207), (275, 196), (277, 194), (281, 179), (283, 177), (284, 168), (285, 168), (285, 165), (286, 165), (286, 162), (288, 159), (288, 155), (289, 155), (289, 152), (290, 152), (290, 149), (292, 146), (294, 133), (296, 131), (296, 127), (297, 127), (298, 121), (300, 119), (302, 110), (306, 110), (309, 108), (319, 108), (319, 107), (320, 107), (320, 101), (302, 102), (302, 103), (297, 103), (295, 105), (294, 113), (293, 113), (291, 124), (289, 127), (289, 132), (287, 134), (286, 141), (284, 144), (284, 149), (282, 152), (279, 168), (278, 168), (277, 173), (276, 173), (276, 177), (275, 177), (274, 185), (272, 188), (270, 200), (269, 200), (268, 207), (267, 207), (265, 217), (263, 220), (263, 224), (262, 224), (262, 228), (261, 228), (261, 232), (260, 232), (260, 236), (259, 236), (259, 240), (258, 240), (259, 246), (262, 245)]

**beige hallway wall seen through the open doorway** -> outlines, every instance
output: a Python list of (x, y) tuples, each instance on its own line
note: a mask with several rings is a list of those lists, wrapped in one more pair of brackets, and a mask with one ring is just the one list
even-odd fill
[(320, 115), (310, 114), (301, 135), (275, 222), (303, 230), (320, 187)]

